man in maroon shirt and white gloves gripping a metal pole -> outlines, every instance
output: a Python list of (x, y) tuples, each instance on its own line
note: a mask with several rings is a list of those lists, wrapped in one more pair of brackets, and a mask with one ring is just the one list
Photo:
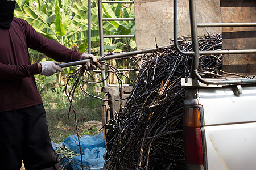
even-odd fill
[(35, 74), (51, 76), (61, 71), (57, 62), (30, 63), (28, 48), (59, 62), (97, 59), (46, 39), (25, 20), (14, 18), (15, 0), (0, 0), (0, 169), (60, 169), (51, 145), (46, 112), (35, 83)]

